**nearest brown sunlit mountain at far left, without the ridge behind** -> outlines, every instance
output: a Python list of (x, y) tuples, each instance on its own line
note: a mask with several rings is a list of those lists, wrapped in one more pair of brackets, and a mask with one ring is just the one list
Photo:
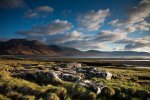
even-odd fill
[(59, 55), (50, 50), (45, 44), (36, 40), (29, 41), (26, 39), (12, 39), (5, 42), (0, 42), (1, 55)]

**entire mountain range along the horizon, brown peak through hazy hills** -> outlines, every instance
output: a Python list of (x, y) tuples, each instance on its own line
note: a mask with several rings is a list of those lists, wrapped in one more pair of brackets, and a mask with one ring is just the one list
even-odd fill
[(47, 56), (78, 56), (78, 57), (99, 57), (99, 56), (150, 56), (148, 52), (135, 51), (80, 51), (75, 48), (63, 47), (60, 45), (46, 45), (37, 40), (11, 39), (0, 42), (0, 55), (47, 55)]

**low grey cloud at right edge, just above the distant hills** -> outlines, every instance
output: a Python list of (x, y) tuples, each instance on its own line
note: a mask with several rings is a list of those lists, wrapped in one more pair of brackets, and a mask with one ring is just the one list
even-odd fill
[(136, 39), (126, 38), (117, 41), (116, 43), (126, 44), (124, 47), (125, 50), (134, 50), (143, 47), (150, 47), (150, 37), (136, 38)]

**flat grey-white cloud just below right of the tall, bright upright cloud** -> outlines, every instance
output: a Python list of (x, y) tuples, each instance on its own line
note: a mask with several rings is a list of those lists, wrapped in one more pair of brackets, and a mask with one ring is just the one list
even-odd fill
[(108, 41), (112, 42), (124, 38), (126, 38), (126, 34), (124, 32), (119, 32), (117, 30), (115, 31), (103, 30), (95, 36), (94, 40), (99, 42), (108, 42)]

